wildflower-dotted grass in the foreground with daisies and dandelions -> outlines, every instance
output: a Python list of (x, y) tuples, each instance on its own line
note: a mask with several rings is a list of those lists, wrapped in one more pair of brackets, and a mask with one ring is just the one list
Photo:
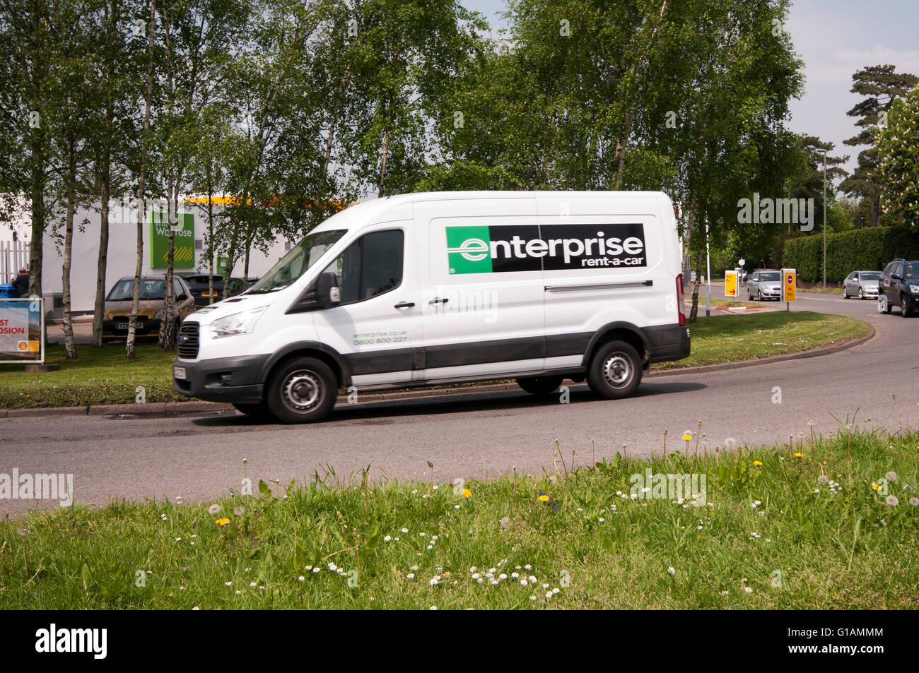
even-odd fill
[[(0, 610), (919, 607), (919, 433), (727, 453), (668, 439), (651, 462), (574, 470), (589, 449), (562, 446), (566, 467), (470, 481), (469, 498), (440, 481), (250, 474), (256, 498), (31, 513), (0, 523)], [(646, 468), (706, 475), (706, 504), (631, 499)]]

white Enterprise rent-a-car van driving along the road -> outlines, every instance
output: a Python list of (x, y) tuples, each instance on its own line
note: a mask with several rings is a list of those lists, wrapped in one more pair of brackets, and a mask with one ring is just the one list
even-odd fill
[(441, 192), (347, 208), (255, 286), (182, 323), (176, 390), (318, 421), (339, 388), (564, 377), (630, 395), (689, 354), (659, 192)]

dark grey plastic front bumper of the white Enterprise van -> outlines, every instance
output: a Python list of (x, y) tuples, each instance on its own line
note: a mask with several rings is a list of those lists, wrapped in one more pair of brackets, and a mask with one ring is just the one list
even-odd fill
[[(262, 369), (270, 355), (216, 357), (199, 362), (173, 361), (173, 387), (190, 398), (252, 404), (262, 401)], [(178, 370), (178, 371), (176, 371)], [(183, 375), (176, 376), (176, 375)]]

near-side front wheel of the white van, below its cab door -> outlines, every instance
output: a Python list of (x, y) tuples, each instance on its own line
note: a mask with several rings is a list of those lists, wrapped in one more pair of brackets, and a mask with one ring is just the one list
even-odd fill
[(285, 423), (322, 421), (332, 408), (338, 386), (329, 366), (312, 357), (284, 363), (268, 382), (268, 408)]

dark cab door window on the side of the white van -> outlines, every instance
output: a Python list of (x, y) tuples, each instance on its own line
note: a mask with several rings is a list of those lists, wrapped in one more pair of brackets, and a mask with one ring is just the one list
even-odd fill
[(402, 230), (374, 231), (349, 245), (325, 273), (333, 273), (341, 288), (341, 304), (376, 297), (402, 285)]

